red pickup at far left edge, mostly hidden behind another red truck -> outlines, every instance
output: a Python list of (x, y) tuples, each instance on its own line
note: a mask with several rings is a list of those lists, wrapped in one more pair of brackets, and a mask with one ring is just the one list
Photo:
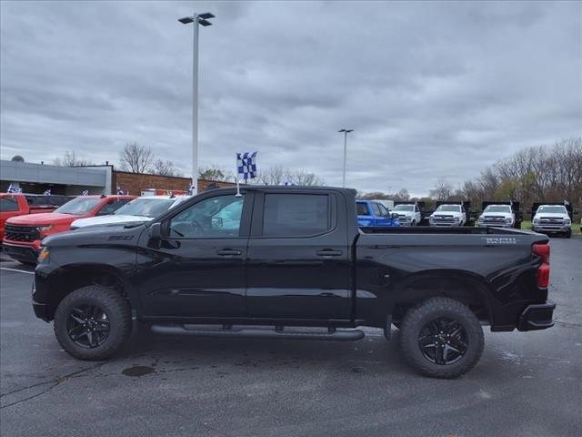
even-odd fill
[(52, 212), (72, 198), (74, 196), (0, 193), (0, 244), (4, 239), (4, 227), (7, 219), (28, 214)]

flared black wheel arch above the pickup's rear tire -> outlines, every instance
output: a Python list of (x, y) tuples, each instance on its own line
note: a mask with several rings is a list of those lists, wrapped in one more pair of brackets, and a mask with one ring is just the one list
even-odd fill
[(463, 270), (430, 270), (412, 275), (392, 291), (392, 319), (399, 321), (406, 310), (437, 297), (458, 300), (473, 310), (479, 320), (494, 324), (491, 292), (485, 279)]

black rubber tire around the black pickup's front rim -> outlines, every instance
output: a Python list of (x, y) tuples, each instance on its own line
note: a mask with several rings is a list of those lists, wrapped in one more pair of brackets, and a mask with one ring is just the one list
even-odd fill
[[(83, 348), (67, 332), (71, 311), (79, 305), (94, 305), (103, 310), (109, 320), (109, 333), (99, 346)], [(55, 311), (55, 335), (61, 347), (79, 360), (106, 360), (119, 351), (131, 333), (132, 320), (129, 303), (119, 292), (100, 285), (77, 289), (61, 300)]]

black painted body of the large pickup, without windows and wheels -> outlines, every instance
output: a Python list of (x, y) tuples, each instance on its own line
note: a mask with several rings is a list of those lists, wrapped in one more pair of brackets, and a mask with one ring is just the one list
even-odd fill
[[(398, 320), (399, 307), (445, 295), (478, 304), (492, 330), (518, 324), (529, 330), (522, 313), (547, 301), (547, 290), (537, 288), (541, 260), (531, 250), (546, 243), (545, 236), (513, 229), (357, 229), (354, 190), (242, 191), (236, 238), (152, 239), (150, 224), (46, 239), (50, 258), (36, 268), (36, 315), (52, 320), (58, 302), (75, 290), (71, 284), (104, 280), (125, 293), (138, 319), (156, 323), (384, 327), (390, 317)], [(327, 196), (330, 229), (310, 237), (263, 237), (266, 193)], [(164, 234), (168, 220), (192, 204), (234, 194), (232, 188), (203, 193), (156, 222)], [(527, 317), (539, 318), (539, 311), (547, 315), (547, 307), (536, 307)]]

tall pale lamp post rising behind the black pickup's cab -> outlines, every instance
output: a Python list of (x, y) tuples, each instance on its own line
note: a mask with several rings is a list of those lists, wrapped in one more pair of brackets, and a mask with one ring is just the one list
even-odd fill
[(215, 15), (206, 12), (178, 19), (183, 25), (194, 23), (194, 52), (192, 62), (192, 194), (198, 192), (198, 25), (212, 25)]

